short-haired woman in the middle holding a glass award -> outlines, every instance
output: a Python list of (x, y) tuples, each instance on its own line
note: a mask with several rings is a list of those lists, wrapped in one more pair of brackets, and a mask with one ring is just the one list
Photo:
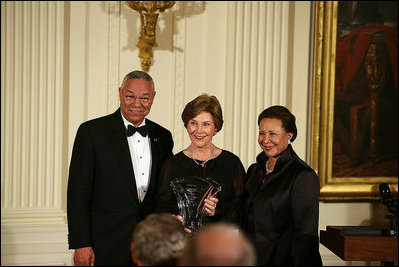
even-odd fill
[(202, 221), (239, 224), (246, 174), (236, 155), (212, 143), (223, 126), (218, 99), (202, 94), (181, 117), (191, 143), (163, 165), (157, 212), (181, 215), (191, 231)]

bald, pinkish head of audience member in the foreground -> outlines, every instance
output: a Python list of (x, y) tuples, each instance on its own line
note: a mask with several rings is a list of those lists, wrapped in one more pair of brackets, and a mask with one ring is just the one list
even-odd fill
[(188, 266), (254, 266), (253, 245), (238, 227), (229, 223), (204, 226), (188, 240), (182, 265)]

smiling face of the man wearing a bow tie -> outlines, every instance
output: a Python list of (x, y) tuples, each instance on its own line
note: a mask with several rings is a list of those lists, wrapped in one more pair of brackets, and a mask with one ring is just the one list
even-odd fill
[(155, 91), (150, 81), (129, 79), (123, 88), (119, 88), (121, 112), (125, 119), (138, 127), (150, 113)]

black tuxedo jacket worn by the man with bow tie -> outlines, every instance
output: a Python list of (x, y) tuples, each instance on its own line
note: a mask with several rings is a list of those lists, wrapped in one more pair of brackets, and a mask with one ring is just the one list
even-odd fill
[(133, 229), (155, 210), (160, 168), (173, 156), (173, 140), (162, 126), (148, 119), (146, 125), (152, 162), (142, 202), (120, 109), (77, 131), (67, 189), (68, 243), (70, 249), (93, 247), (96, 265), (131, 265)]

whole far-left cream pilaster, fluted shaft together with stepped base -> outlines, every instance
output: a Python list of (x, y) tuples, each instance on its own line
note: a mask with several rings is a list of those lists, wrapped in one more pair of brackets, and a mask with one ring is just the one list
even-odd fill
[(1, 265), (72, 263), (62, 181), (64, 6), (1, 2)]

